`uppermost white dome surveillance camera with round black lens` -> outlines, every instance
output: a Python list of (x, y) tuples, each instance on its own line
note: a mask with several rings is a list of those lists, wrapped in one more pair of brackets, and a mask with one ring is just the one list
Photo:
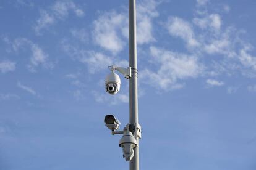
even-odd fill
[(121, 79), (116, 73), (114, 73), (114, 71), (106, 76), (105, 87), (106, 92), (109, 94), (117, 94), (117, 92), (120, 90), (120, 84)]

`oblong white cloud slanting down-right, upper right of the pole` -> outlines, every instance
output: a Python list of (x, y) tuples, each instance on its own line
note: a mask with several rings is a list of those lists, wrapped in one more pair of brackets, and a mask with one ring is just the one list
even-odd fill
[(189, 22), (179, 17), (169, 17), (166, 27), (171, 36), (177, 36), (187, 42), (187, 46), (199, 46), (197, 39), (195, 39), (192, 25)]

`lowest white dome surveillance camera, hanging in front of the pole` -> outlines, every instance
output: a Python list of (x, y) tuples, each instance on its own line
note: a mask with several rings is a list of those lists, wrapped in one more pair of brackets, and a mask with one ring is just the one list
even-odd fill
[(124, 153), (124, 158), (126, 161), (132, 160), (134, 157), (134, 149), (137, 147), (137, 140), (132, 135), (132, 132), (130, 132), (128, 129), (124, 129), (124, 135), (119, 140), (119, 147), (122, 147), (122, 152)]

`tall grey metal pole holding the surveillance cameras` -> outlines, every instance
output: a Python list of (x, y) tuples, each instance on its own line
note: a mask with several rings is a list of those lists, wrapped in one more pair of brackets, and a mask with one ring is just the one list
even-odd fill
[[(137, 96), (137, 43), (136, 43), (136, 1), (129, 0), (129, 65), (132, 68), (132, 77), (129, 79), (129, 108), (130, 124), (138, 123), (138, 96)], [(139, 139), (135, 136), (138, 145), (134, 148), (134, 158), (130, 161), (130, 170), (139, 170)]]

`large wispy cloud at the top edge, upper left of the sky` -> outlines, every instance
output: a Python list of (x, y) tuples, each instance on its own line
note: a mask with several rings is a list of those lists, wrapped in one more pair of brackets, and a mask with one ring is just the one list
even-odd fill
[(77, 7), (73, 1), (56, 1), (49, 10), (40, 10), (40, 17), (36, 20), (33, 28), (37, 34), (40, 34), (41, 30), (49, 28), (59, 20), (65, 20), (70, 11), (74, 12), (77, 17), (83, 17), (84, 15), (83, 10)]

